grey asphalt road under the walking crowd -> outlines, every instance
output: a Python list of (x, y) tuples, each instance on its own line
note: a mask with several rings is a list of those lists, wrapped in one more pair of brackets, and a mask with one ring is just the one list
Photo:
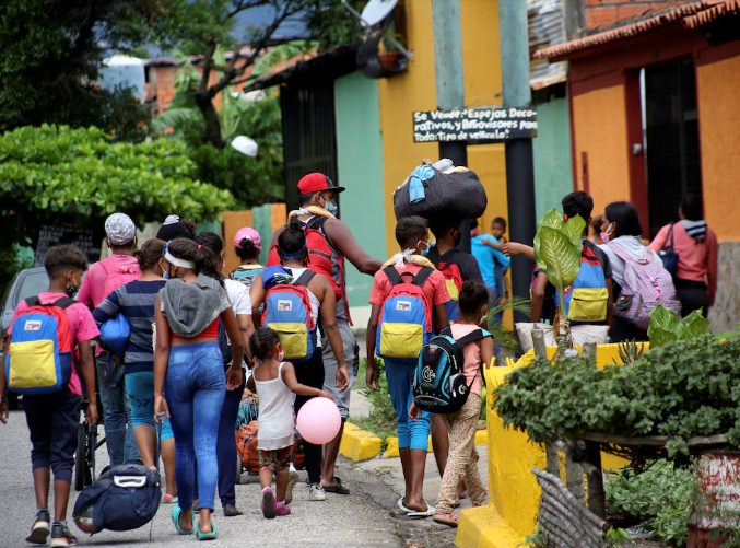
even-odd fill
[[(101, 433), (102, 433), (101, 428)], [(25, 536), (35, 517), (33, 477), (31, 474), (31, 443), (23, 411), (13, 411), (9, 424), (0, 424), (0, 548), (32, 546)], [(98, 469), (107, 462), (105, 447), (97, 452)], [(245, 510), (244, 516), (224, 517), (220, 510), (214, 523), (220, 537), (209, 546), (286, 548), (294, 546), (321, 547), (402, 547), (409, 536), (404, 517), (394, 512), (396, 493), (379, 477), (352, 466), (345, 459), (337, 471), (352, 490), (349, 497), (329, 494), (326, 502), (309, 502), (308, 486), (298, 483), (290, 516), (275, 520), (262, 517), (259, 502), (260, 488), (257, 478), (243, 476), (246, 483), (236, 486), (237, 505)], [(305, 473), (302, 473), (305, 479)], [(54, 508), (54, 495), (49, 508)], [(162, 505), (150, 526), (140, 529), (113, 533), (103, 532), (93, 537), (82, 534), (71, 522), (77, 493), (72, 490), (68, 523), (80, 546), (104, 547), (173, 547), (195, 546), (195, 536), (183, 537), (175, 532), (169, 512), (172, 506)], [(218, 505), (218, 503), (216, 503)], [(428, 520), (431, 522), (431, 520)], [(451, 533), (451, 532), (450, 532)], [(426, 533), (422, 535), (426, 537)], [(431, 546), (449, 546), (445, 540)], [(424, 543), (426, 544), (426, 543)], [(410, 544), (409, 544), (410, 545)]]

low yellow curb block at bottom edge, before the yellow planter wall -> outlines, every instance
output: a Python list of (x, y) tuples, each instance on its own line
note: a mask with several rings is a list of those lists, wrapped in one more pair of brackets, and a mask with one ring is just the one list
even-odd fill
[(517, 534), (492, 504), (460, 513), (455, 537), (458, 548), (516, 548), (524, 541), (525, 537)]

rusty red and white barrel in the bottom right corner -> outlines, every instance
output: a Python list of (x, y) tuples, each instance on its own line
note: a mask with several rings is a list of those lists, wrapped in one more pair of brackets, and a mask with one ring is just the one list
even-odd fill
[(700, 454), (696, 476), (688, 548), (718, 548), (732, 538), (723, 529), (740, 527), (740, 452)]

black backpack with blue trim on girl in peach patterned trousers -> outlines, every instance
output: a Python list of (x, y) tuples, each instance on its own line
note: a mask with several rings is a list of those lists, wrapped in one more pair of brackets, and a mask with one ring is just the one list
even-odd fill
[(430, 340), (419, 353), (413, 376), (413, 401), (423, 411), (449, 415), (462, 409), (472, 383), (465, 377), (463, 348), (468, 342), (491, 337), (485, 329), (475, 329), (455, 340), (449, 327)]

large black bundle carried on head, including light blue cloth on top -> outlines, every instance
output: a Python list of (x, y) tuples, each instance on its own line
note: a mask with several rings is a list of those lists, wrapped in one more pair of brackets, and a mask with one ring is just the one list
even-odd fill
[(478, 175), (466, 167), (453, 167), (449, 160), (441, 160), (434, 166), (420, 165), (394, 194), (396, 219), (477, 219), (486, 205)]

